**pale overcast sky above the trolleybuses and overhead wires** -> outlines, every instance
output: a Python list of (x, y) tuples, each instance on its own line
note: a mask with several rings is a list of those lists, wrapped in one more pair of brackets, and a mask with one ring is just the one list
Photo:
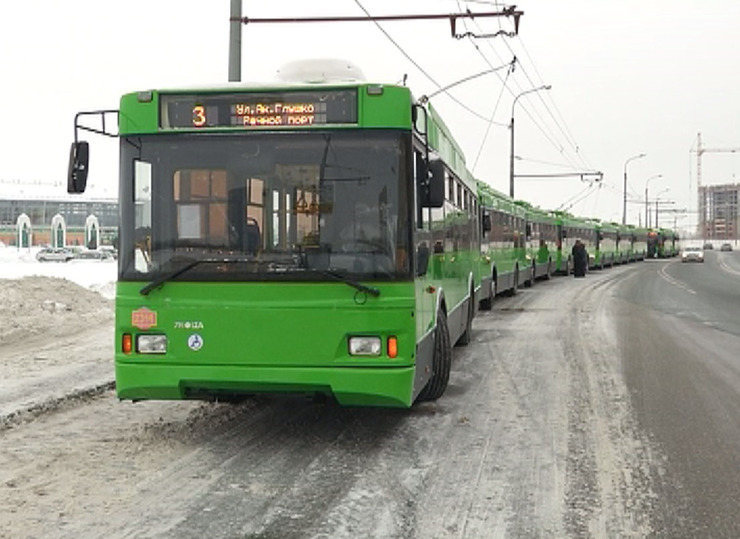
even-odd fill
[[(0, 194), (66, 193), (74, 114), (117, 108), (121, 94), (225, 82), (229, 0), (3, 2), (0, 33), (3, 129)], [(243, 0), (252, 18), (499, 11), (462, 0)], [(368, 79), (407, 76), (416, 96), (493, 67), (506, 69), (432, 98), (469, 168), (509, 191), (509, 122), (514, 107), (515, 195), (546, 209), (621, 221), (654, 211), (679, 227), (696, 220), (697, 134), (707, 149), (740, 150), (740, 1), (521, 0), (517, 37), (455, 39), (448, 21), (248, 24), (242, 80), (271, 78), (284, 62), (316, 57), (355, 62)], [(458, 23), (458, 31), (512, 30), (504, 18)], [(465, 107), (458, 102), (462, 102)], [(471, 112), (474, 111), (473, 112)], [(492, 122), (489, 120), (493, 120)], [(115, 196), (117, 145), (91, 143), (90, 195)], [(693, 151), (692, 151), (693, 150)], [(645, 153), (639, 159), (632, 157)], [(629, 164), (628, 163), (629, 161)], [(599, 171), (603, 182), (582, 182)], [(556, 176), (572, 173), (573, 176)], [(660, 177), (658, 177), (660, 175)], [(740, 151), (702, 156), (702, 183), (740, 182)], [(673, 204), (670, 204), (673, 202)], [(673, 209), (688, 214), (669, 213)], [(661, 222), (663, 224), (670, 223)]]

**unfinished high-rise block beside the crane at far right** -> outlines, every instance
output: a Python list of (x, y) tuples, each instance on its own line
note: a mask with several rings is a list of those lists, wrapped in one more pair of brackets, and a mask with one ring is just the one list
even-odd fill
[(738, 237), (740, 184), (699, 186), (699, 236), (735, 240)]

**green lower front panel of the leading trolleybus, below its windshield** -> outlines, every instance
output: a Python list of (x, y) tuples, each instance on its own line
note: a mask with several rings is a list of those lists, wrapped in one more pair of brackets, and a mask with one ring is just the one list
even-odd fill
[[(343, 283), (171, 282), (149, 296), (117, 285), (116, 387), (122, 399), (333, 394), (342, 404), (410, 406), (415, 374), (413, 283), (376, 283), (378, 298)], [(142, 307), (156, 326), (132, 325)], [(167, 336), (166, 354), (125, 354), (123, 334)], [(191, 349), (197, 335), (202, 347)], [(378, 336), (379, 357), (349, 355), (350, 336)], [(398, 356), (388, 357), (388, 337)]]

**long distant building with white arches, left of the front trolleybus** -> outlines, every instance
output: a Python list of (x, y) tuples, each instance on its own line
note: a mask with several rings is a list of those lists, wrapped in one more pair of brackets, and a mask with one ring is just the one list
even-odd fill
[(0, 241), (5, 245), (80, 245), (118, 242), (118, 202), (0, 196)]

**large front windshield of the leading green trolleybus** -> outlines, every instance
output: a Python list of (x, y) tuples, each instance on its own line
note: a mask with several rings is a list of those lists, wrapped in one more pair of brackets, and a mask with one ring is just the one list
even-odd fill
[(121, 279), (410, 279), (410, 147), (380, 130), (124, 138)]

